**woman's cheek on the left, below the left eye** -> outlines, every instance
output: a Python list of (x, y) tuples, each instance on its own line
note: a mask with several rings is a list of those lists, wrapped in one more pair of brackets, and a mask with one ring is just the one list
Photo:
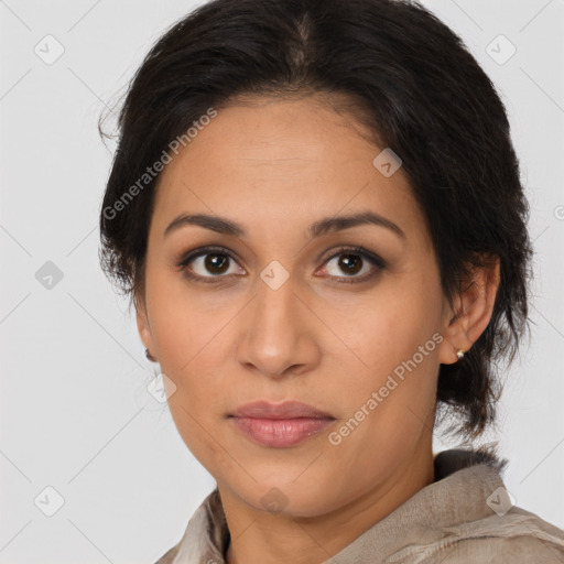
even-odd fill
[[(223, 457), (212, 440), (225, 411), (228, 386), (215, 375), (225, 372), (229, 332), (237, 313), (231, 303), (219, 304), (212, 294), (205, 300), (187, 288), (180, 273), (148, 275), (151, 327), (160, 368), (172, 380), (169, 408), (175, 425), (197, 458)], [(208, 303), (210, 302), (210, 303)], [(231, 336), (232, 339), (232, 336)]]

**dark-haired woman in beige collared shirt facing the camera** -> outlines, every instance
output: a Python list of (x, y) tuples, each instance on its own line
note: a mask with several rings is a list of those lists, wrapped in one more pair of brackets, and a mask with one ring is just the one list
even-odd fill
[(495, 87), (420, 4), (215, 0), (120, 115), (102, 267), (217, 488), (159, 564), (563, 562), (494, 448), (528, 204)]

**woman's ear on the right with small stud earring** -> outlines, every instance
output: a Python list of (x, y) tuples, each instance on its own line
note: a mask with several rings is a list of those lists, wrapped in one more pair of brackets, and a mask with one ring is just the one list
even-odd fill
[(468, 351), (491, 318), (500, 281), (499, 258), (485, 262), (484, 267), (471, 268), (470, 280), (464, 282), (453, 307), (445, 307), (444, 340), (438, 349), (438, 361), (443, 365), (457, 362), (456, 351)]

